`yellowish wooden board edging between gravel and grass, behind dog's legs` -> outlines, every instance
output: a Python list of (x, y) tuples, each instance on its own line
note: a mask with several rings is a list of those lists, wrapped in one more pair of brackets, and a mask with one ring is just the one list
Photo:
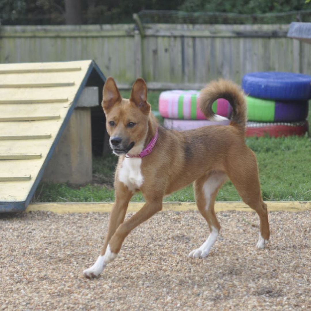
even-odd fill
[[(306, 211), (311, 210), (311, 201), (269, 201), (268, 211)], [(144, 202), (130, 202), (128, 212), (136, 212), (142, 208)], [(99, 203), (31, 203), (26, 208), (30, 211), (51, 211), (57, 214), (88, 213), (111, 211), (112, 202)], [(163, 211), (193, 211), (197, 210), (195, 202), (163, 202)], [(243, 202), (216, 202), (215, 211), (253, 211)]]

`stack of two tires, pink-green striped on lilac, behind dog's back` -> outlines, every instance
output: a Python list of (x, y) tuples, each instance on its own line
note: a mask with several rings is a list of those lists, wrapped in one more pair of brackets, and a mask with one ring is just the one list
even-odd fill
[(228, 125), (232, 108), (225, 99), (218, 99), (212, 110), (220, 117), (207, 120), (199, 109), (199, 91), (164, 91), (159, 97), (159, 112), (164, 118), (164, 126), (175, 130), (190, 130), (207, 125)]

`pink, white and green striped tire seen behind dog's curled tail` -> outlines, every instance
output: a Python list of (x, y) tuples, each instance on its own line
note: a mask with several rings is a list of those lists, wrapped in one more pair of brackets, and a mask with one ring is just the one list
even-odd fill
[[(172, 90), (164, 91), (159, 97), (159, 112), (163, 118), (206, 120), (199, 109), (199, 91)], [(213, 103), (215, 114), (229, 118), (232, 108), (225, 99), (218, 99)]]

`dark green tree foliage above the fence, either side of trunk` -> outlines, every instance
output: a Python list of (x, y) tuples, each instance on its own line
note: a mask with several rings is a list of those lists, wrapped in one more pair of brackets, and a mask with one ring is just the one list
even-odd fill
[[(161, 20), (163, 21), (163, 18), (165, 18), (165, 14), (163, 13), (165, 10), (179, 10), (185, 12), (230, 12), (240, 14), (262, 14), (310, 9), (310, 0), (79, 1), (81, 1), (83, 24), (133, 23), (133, 13), (138, 13), (142, 10), (160, 10), (158, 11), (160, 13), (155, 13), (152, 18), (154, 21), (159, 18), (159, 22), (161, 22)], [(178, 14), (182, 15), (184, 13), (179, 12)], [(293, 18), (295, 19), (295, 16)], [(168, 19), (169, 20), (166, 22), (174, 22), (171, 16), (169, 16)], [(64, 24), (65, 1), (0, 0), (0, 20), (2, 25)], [(213, 19), (213, 21), (217, 22), (217, 18), (216, 20)], [(234, 20), (224, 17), (220, 18), (219, 22), (232, 23)]]

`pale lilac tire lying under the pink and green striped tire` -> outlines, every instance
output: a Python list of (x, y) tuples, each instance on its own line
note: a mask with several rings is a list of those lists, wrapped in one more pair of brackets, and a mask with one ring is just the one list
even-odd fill
[(202, 126), (209, 126), (209, 125), (228, 125), (229, 123), (230, 123), (229, 119), (223, 119), (220, 121), (210, 121), (210, 120), (179, 120), (179, 119), (164, 118), (164, 127), (177, 131), (192, 130), (194, 128), (200, 128)]

